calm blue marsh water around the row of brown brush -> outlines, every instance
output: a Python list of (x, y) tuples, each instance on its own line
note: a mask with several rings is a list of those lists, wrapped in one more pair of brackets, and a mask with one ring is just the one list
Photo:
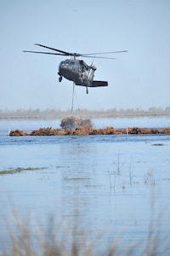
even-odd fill
[[(94, 119), (97, 127), (161, 128), (170, 119)], [(161, 247), (170, 232), (170, 136), (8, 137), (8, 129), (58, 127), (59, 120), (0, 121), (0, 242), (8, 247), (11, 209), (47, 226), (53, 214), (79, 226), (98, 247), (121, 236)], [(141, 242), (142, 241), (142, 242)], [(169, 242), (169, 241), (168, 241)]]

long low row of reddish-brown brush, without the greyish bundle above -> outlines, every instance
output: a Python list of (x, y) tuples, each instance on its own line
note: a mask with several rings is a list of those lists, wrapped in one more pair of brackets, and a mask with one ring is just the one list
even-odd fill
[(38, 130), (27, 133), (26, 131), (14, 130), (10, 131), (9, 136), (77, 136), (77, 135), (124, 135), (124, 134), (170, 134), (170, 127), (162, 128), (161, 130), (153, 128), (139, 128), (132, 127), (127, 129), (115, 129), (113, 127), (106, 127), (103, 129), (88, 128), (85, 126), (77, 127), (75, 130), (71, 129), (52, 129), (40, 128)]

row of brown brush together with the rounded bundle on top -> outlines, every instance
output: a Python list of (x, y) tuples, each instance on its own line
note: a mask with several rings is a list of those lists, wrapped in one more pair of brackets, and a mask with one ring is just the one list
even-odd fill
[(65, 136), (65, 135), (123, 135), (123, 134), (170, 134), (170, 127), (161, 130), (153, 128), (132, 127), (126, 129), (115, 129), (113, 127), (94, 128), (90, 119), (78, 119), (68, 117), (61, 120), (61, 129), (40, 128), (27, 133), (26, 131), (10, 131), (9, 136)]

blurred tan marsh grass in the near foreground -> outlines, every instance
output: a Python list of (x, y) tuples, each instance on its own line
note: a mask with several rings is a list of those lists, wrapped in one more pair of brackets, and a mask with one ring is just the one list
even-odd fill
[(21, 218), (13, 211), (12, 222), (6, 225), (9, 242), (3, 252), (0, 248), (0, 256), (162, 256), (170, 253), (169, 236), (160, 236), (160, 227), (151, 215), (146, 241), (125, 246), (121, 231), (105, 249), (100, 244), (103, 235), (95, 234), (92, 242), (77, 224), (71, 229), (65, 221), (57, 223), (54, 216), (49, 216), (45, 228), (37, 222), (32, 223), (29, 218)]

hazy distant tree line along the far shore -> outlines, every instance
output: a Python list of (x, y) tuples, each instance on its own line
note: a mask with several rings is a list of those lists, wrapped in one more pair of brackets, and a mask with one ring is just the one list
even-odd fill
[(39, 108), (27, 110), (1, 110), (0, 119), (63, 119), (68, 116), (77, 116), (83, 118), (110, 118), (110, 117), (123, 117), (123, 116), (148, 116), (148, 115), (170, 115), (170, 106), (166, 108), (150, 107), (148, 110), (141, 108), (111, 108), (108, 110), (89, 110), (89, 109), (76, 109), (71, 113), (71, 110), (62, 111), (56, 109)]

